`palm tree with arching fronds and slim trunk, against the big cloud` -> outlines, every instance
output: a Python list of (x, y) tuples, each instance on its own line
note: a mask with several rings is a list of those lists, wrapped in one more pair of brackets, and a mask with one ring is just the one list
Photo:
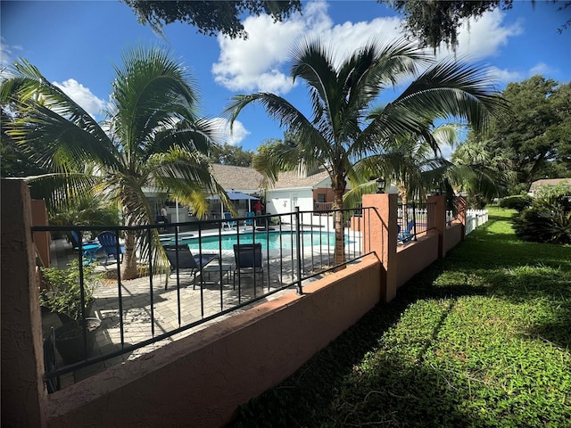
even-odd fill
[[(297, 136), (298, 144), (266, 150), (254, 166), (265, 172), (270, 182), (280, 170), (300, 164), (327, 169), (338, 209), (343, 209), (348, 180), (354, 177), (357, 181), (354, 163), (379, 152), (384, 142), (395, 136), (426, 135), (427, 124), (435, 119), (454, 117), (484, 128), (489, 115), (503, 106), (484, 70), (452, 60), (434, 63), (427, 53), (405, 40), (387, 45), (370, 42), (339, 63), (333, 52), (319, 40), (306, 40), (292, 51), (290, 75), (306, 83), (311, 119), (271, 93), (236, 95), (226, 112), (233, 123), (248, 104), (261, 103), (272, 119)], [(418, 75), (420, 66), (429, 67)], [(417, 75), (393, 103), (368, 120), (371, 104), (386, 87)], [(335, 263), (343, 261), (343, 214), (337, 212)]]

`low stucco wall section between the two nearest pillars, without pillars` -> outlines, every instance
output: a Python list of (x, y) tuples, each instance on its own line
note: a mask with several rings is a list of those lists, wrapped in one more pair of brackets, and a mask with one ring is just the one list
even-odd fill
[(215, 427), (381, 300), (371, 255), (136, 361), (49, 396), (51, 427)]

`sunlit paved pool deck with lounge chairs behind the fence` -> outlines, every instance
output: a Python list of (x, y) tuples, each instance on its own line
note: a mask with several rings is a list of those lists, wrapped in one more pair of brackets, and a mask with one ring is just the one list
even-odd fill
[[(230, 233), (236, 234), (236, 231)], [(202, 278), (203, 281), (198, 276), (195, 287), (193, 286), (191, 276), (183, 274), (178, 276), (178, 280), (175, 274), (171, 275), (166, 288), (165, 282), (167, 277), (165, 275), (153, 276), (153, 278), (144, 276), (133, 280), (121, 281), (119, 286), (116, 279), (117, 261), (110, 259), (105, 263), (104, 257), (101, 258), (99, 253), (95, 257), (97, 258), (96, 271), (103, 273), (107, 279), (103, 281), (103, 284), (99, 284), (94, 292), (95, 302), (93, 314), (91, 315), (101, 319), (102, 325), (97, 329), (95, 349), (92, 351), (91, 356), (120, 350), (129, 344), (152, 339), (181, 326), (199, 323), (204, 318), (213, 316), (221, 310), (235, 308), (247, 300), (261, 297), (265, 293), (275, 291), (282, 284), (288, 284), (293, 281), (292, 269), (294, 267), (291, 262), (287, 263), (287, 258), (281, 259), (281, 262), (280, 259), (269, 259), (269, 262), (264, 263), (263, 286), (259, 276), (256, 279), (255, 289), (252, 277), (241, 276), (239, 284), (236, 278), (235, 288), (233, 284), (234, 278), (232, 277), (234, 251), (221, 251), (219, 263), (225, 265), (221, 281), (219, 271), (212, 271)], [(53, 267), (66, 268), (67, 263), (74, 258), (78, 258), (78, 253), (73, 250), (71, 244), (66, 239), (53, 241), (51, 244)], [(264, 259), (266, 258), (264, 257)], [(289, 259), (291, 261), (291, 257)], [(213, 261), (212, 265), (219, 266), (217, 261)], [(226, 268), (228, 267), (231, 268), (227, 270)], [(285, 292), (295, 292), (294, 287), (274, 292), (269, 296), (262, 297), (261, 300), (236, 310), (245, 310), (262, 301), (275, 299)], [(121, 311), (119, 309), (119, 295), (121, 296)], [(232, 311), (227, 315), (196, 325), (160, 342), (122, 354), (119, 357), (80, 368), (73, 373), (64, 374), (61, 377), (62, 388), (98, 373), (106, 367), (122, 364), (125, 361), (156, 350), (167, 343), (199, 331), (206, 325), (216, 323), (223, 317), (230, 317), (235, 313), (236, 311)], [(50, 333), (52, 327), (57, 328), (60, 325), (59, 318), (53, 313), (43, 315), (43, 332), (45, 337)], [(58, 366), (63, 366), (57, 352), (56, 359), (58, 360)]]

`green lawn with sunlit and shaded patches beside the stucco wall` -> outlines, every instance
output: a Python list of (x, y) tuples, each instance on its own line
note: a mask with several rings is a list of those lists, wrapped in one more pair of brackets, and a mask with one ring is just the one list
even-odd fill
[(571, 247), (492, 209), (234, 426), (571, 426)]

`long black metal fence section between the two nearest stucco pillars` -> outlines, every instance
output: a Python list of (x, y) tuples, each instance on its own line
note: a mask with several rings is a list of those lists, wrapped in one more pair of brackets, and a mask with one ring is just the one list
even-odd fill
[[(160, 346), (194, 327), (259, 300), (271, 299), (277, 292), (292, 288), (303, 292), (304, 282), (364, 257), (363, 239), (370, 234), (352, 225), (367, 225), (362, 218), (371, 209), (300, 211), (256, 218), (190, 221), (168, 225), (128, 226), (34, 226), (33, 232), (81, 237), (84, 232), (112, 232), (110, 248), (102, 242), (79, 239), (75, 251), (67, 254), (79, 263), (82, 358), (63, 362), (55, 353), (58, 328), (45, 339), (46, 384), (48, 391), (60, 388), (60, 376), (78, 373), (85, 367), (109, 366), (137, 358), (145, 347)], [(356, 218), (357, 221), (352, 221)], [(342, 223), (343, 254), (335, 253), (335, 218)], [(157, 274), (148, 247), (136, 245), (139, 270), (145, 272), (132, 281), (121, 278), (120, 259), (126, 257), (122, 236), (133, 231), (147, 242), (156, 232), (161, 245), (178, 248), (176, 259)], [(166, 232), (166, 233), (165, 233)], [(110, 235), (110, 234), (107, 234)], [(246, 267), (236, 254), (236, 246), (250, 245), (255, 266)], [(109, 246), (109, 245), (108, 245)], [(152, 250), (153, 247), (151, 247)], [(197, 266), (183, 266), (186, 248)], [(184, 251), (185, 254), (183, 254)], [(254, 250), (252, 250), (254, 251)], [(114, 256), (110, 253), (115, 253)], [(260, 257), (260, 263), (258, 263)], [(103, 261), (103, 258), (105, 261)], [(206, 262), (208, 260), (208, 262)], [(95, 263), (111, 273), (95, 290), (95, 317), (101, 326), (88, 328), (92, 316), (86, 308), (84, 266)], [(242, 263), (242, 265), (241, 265)], [(176, 265), (173, 267), (173, 264)], [(252, 268), (248, 271), (245, 268)], [(252, 273), (253, 275), (248, 275)], [(94, 336), (93, 338), (90, 338)], [(92, 349), (93, 347), (93, 349)], [(92, 370), (93, 371), (93, 370)]]

